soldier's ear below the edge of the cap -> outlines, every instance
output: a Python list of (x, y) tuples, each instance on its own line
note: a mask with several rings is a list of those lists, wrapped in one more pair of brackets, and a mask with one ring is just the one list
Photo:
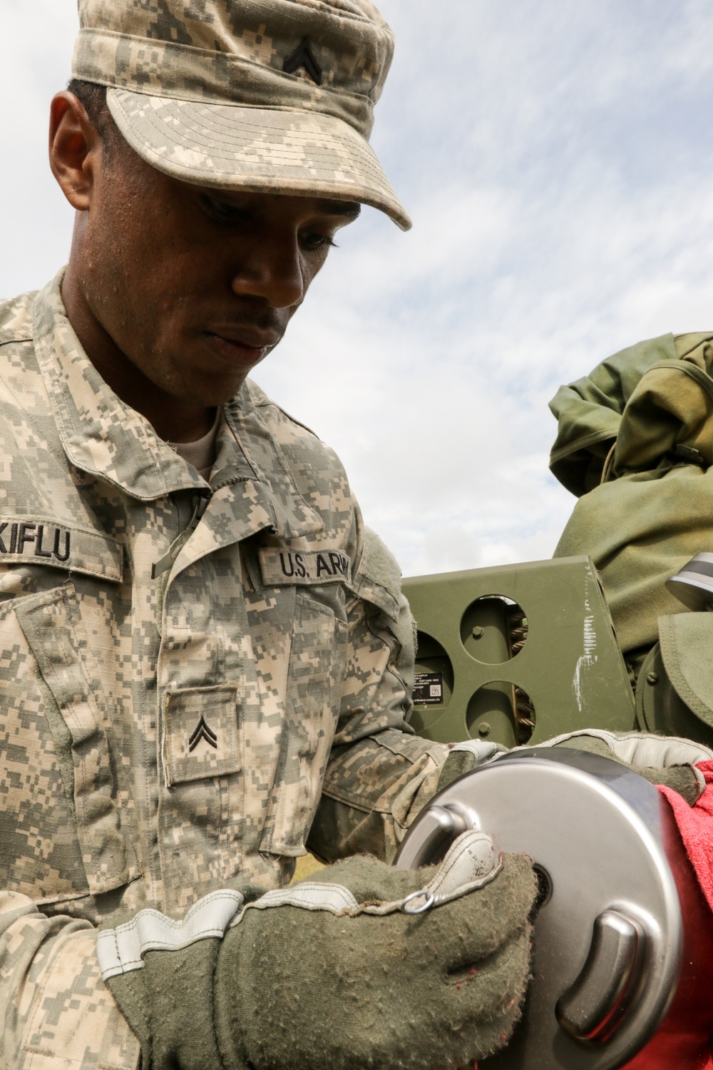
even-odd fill
[(88, 211), (102, 144), (83, 106), (67, 91), (57, 93), (49, 113), (49, 166), (78, 212)]

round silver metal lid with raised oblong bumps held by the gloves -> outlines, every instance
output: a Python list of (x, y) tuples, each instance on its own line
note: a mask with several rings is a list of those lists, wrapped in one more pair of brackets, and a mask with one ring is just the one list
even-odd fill
[[(450, 823), (450, 825), (449, 825)], [(435, 860), (465, 827), (524, 851), (541, 881), (524, 1015), (489, 1070), (615, 1070), (676, 991), (682, 919), (658, 791), (596, 754), (532, 748), (467, 774), (412, 826), (397, 865)]]

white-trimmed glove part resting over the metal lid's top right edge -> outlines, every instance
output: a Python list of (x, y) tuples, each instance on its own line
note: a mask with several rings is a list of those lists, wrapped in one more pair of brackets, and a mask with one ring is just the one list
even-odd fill
[[(679, 736), (657, 736), (651, 732), (606, 732), (584, 729), (556, 736), (539, 747), (571, 747), (611, 758), (645, 777), (652, 784), (672, 788), (693, 806), (706, 789), (696, 762), (713, 759), (713, 750)], [(518, 747), (517, 750), (526, 748)]]

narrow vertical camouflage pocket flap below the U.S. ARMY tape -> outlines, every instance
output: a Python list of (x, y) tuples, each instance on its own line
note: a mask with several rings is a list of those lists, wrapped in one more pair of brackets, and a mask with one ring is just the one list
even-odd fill
[(335, 735), (346, 656), (343, 588), (330, 585), (328, 594), (323, 590), (320, 596), (317, 588), (303, 587), (294, 607), (284, 717), (260, 842), (266, 854), (289, 856), (306, 854), (305, 840)]

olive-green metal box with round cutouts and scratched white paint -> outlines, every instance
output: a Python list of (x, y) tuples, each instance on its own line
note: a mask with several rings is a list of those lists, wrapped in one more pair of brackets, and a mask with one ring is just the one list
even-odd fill
[(507, 747), (635, 728), (634, 696), (589, 557), (404, 580), (418, 625), (410, 723)]

